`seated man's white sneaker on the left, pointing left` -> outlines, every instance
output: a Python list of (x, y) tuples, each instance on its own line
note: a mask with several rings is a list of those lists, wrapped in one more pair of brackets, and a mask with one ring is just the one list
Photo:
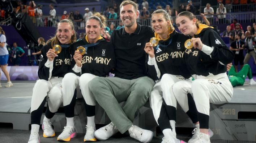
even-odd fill
[(116, 134), (118, 129), (116, 126), (111, 122), (110, 124), (103, 126), (94, 132), (94, 135), (99, 140), (107, 140), (112, 135)]

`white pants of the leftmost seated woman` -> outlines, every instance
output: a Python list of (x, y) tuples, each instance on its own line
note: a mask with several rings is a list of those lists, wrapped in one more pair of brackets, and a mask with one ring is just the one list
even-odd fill
[(50, 80), (39, 79), (33, 88), (31, 99), (31, 111), (37, 110), (44, 98), (48, 98), (48, 106), (51, 112), (57, 112), (62, 103), (61, 82), (63, 78), (52, 77)]

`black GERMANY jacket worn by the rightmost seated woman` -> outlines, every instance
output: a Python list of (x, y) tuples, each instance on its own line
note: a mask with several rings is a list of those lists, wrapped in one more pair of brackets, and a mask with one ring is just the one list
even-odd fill
[(202, 50), (185, 50), (188, 70), (193, 78), (219, 79), (227, 76), (226, 65), (234, 59), (233, 52), (222, 41), (216, 28), (200, 24), (198, 33), (194, 37), (201, 38)]

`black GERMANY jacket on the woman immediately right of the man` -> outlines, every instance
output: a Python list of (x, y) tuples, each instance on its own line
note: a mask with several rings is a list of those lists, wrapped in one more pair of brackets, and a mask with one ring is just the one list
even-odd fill
[[(149, 60), (152, 60), (148, 62), (149, 74), (153, 80), (162, 78), (162, 75), (166, 73), (172, 75), (182, 75), (187, 79), (191, 77), (184, 58), (184, 42), (187, 39), (189, 39), (188, 36), (174, 30), (169, 34), (169, 38), (167, 40), (159, 41), (159, 43), (162, 45), (168, 45), (170, 41), (171, 43), (167, 47), (159, 46), (157, 50), (154, 50), (154, 59), (149, 57)], [(153, 63), (154, 65), (152, 65)], [(160, 70), (161, 74), (157, 72), (158, 69)]]

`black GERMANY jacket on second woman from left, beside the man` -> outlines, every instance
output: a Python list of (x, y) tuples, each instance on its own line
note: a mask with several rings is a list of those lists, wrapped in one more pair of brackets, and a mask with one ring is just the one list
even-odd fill
[[(97, 42), (99, 42), (98, 45), (88, 47), (83, 55), (81, 74), (90, 73), (99, 77), (106, 77), (109, 72), (113, 72), (112, 70), (115, 67), (114, 47), (112, 43), (107, 42), (102, 37)], [(73, 43), (71, 45), (72, 59), (77, 47), (88, 44), (85, 38)], [(73, 68), (75, 64), (76, 61), (72, 60), (71, 67)]]

